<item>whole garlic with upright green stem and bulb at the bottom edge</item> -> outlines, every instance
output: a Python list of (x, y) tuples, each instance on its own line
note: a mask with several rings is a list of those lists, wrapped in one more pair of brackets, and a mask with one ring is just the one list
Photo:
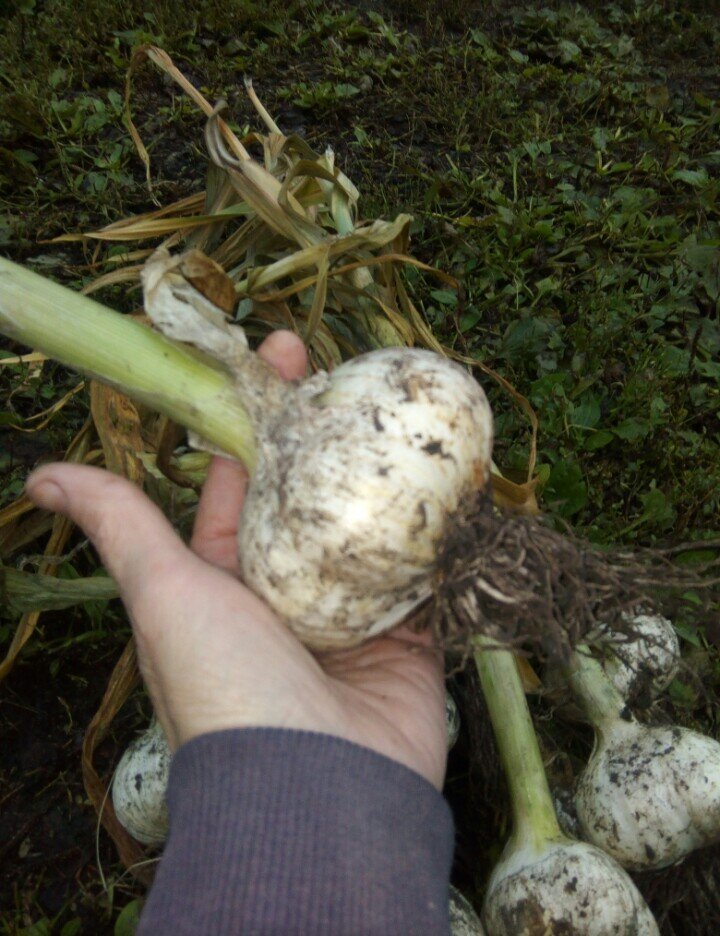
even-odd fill
[(477, 638), (475, 662), (510, 787), (513, 832), (493, 869), (482, 920), (490, 936), (657, 936), (629, 875), (560, 831), (513, 654)]

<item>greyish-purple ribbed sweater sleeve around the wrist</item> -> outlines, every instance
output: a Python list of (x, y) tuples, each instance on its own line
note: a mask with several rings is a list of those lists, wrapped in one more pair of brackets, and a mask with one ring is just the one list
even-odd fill
[(419, 774), (304, 731), (176, 754), (170, 835), (138, 936), (447, 936), (450, 810)]

